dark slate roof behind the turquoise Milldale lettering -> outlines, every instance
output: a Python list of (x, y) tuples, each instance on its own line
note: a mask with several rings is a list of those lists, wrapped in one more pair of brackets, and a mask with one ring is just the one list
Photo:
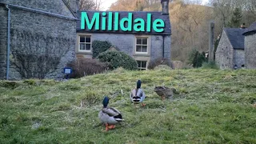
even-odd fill
[[(119, 21), (122, 18), (127, 18), (128, 17), (128, 13), (132, 13), (133, 14), (133, 23), (134, 23), (134, 19), (136, 18), (142, 18), (145, 21), (145, 29), (146, 29), (146, 25), (147, 25), (147, 14), (152, 14), (152, 22), (154, 22), (155, 19), (162, 19), (165, 22), (165, 28), (164, 31), (162, 33), (158, 33), (156, 31), (154, 31), (153, 29), (151, 30), (151, 32), (137, 32), (135, 30), (130, 31), (130, 32), (124, 32), (122, 31), (120, 28), (118, 29), (118, 31), (106, 31), (106, 30), (94, 30), (94, 27), (92, 30), (81, 30), (81, 13), (82, 12), (86, 12), (89, 19), (91, 20), (94, 16), (94, 13), (98, 12), (100, 13), (100, 15), (102, 15), (102, 12), (106, 12), (106, 26), (108, 25), (108, 12), (113, 12), (113, 17), (114, 17), (114, 13), (118, 12), (119, 14)], [(89, 32), (89, 33), (115, 33), (115, 34), (166, 34), (166, 35), (170, 35), (171, 34), (171, 26), (170, 26), (170, 17), (169, 15), (162, 15), (162, 12), (148, 12), (148, 11), (94, 11), (94, 10), (86, 10), (86, 11), (79, 11), (78, 12), (78, 22), (77, 22), (77, 31), (78, 32)], [(114, 18), (113, 18), (114, 20)], [(101, 20), (100, 20), (101, 21)], [(114, 26), (114, 21), (113, 21), (113, 26)], [(151, 26), (152, 27), (152, 26)]]

